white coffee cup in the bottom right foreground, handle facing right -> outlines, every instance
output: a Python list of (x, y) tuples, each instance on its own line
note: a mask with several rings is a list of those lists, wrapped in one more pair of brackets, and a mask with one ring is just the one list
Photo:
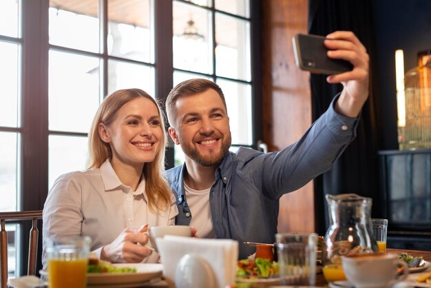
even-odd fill
[[(408, 265), (397, 254), (343, 256), (341, 264), (348, 282), (357, 288), (389, 287), (408, 276)], [(399, 265), (404, 269), (397, 277)]]

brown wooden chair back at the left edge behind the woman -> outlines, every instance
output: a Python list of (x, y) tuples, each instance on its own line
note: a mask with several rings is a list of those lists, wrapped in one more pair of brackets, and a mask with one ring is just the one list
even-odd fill
[(23, 212), (0, 212), (0, 278), (1, 288), (8, 287), (8, 232), (6, 232), (6, 222), (17, 223), (21, 220), (32, 220), (30, 230), (30, 242), (28, 244), (28, 275), (36, 274), (37, 240), (39, 231), (37, 230), (37, 220), (42, 218), (42, 210)]

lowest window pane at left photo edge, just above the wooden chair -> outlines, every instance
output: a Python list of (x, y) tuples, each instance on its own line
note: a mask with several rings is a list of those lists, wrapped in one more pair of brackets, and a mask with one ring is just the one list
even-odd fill
[(0, 211), (17, 211), (18, 134), (0, 132)]

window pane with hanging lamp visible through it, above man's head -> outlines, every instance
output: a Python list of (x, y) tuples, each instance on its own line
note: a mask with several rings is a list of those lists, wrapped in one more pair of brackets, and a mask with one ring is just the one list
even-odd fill
[(174, 68), (211, 74), (211, 12), (174, 1)]

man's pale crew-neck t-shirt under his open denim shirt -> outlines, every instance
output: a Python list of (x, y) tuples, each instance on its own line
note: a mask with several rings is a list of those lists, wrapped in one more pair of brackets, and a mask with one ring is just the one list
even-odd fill
[(187, 186), (186, 183), (184, 183), (184, 188), (191, 212), (190, 226), (196, 228), (196, 235), (199, 238), (215, 238), (211, 209), (209, 208), (211, 188), (195, 190)]

